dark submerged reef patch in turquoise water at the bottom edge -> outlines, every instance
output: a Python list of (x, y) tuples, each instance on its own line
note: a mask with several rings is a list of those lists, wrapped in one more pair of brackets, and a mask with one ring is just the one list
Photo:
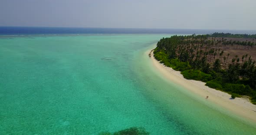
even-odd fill
[(124, 129), (113, 134), (110, 132), (102, 132), (98, 135), (149, 135), (149, 132), (141, 127), (131, 127), (129, 129)]

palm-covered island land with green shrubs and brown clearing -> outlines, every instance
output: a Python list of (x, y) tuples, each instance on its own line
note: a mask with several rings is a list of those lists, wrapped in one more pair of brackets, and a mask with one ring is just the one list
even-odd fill
[(154, 58), (184, 78), (256, 104), (256, 34), (213, 33), (163, 38)]

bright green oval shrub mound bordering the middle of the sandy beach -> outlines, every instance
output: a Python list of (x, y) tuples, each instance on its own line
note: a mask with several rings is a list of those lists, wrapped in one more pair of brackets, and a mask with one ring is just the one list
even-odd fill
[(181, 74), (183, 74), (184, 78), (186, 79), (201, 80), (203, 82), (207, 82), (213, 79), (210, 74), (205, 74), (199, 70), (185, 70), (182, 71)]

